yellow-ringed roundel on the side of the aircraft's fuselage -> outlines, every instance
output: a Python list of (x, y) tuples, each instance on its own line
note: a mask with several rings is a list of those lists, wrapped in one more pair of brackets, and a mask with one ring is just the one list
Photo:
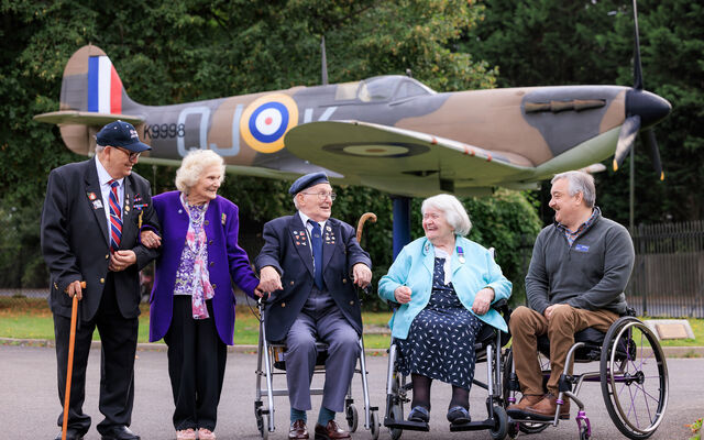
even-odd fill
[(296, 101), (288, 95), (272, 94), (248, 106), (240, 119), (240, 133), (253, 150), (275, 153), (284, 147), (284, 135), (296, 124)]

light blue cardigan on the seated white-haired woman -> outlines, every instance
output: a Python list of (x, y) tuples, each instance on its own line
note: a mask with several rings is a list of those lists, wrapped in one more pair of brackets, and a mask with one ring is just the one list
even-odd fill
[[(458, 246), (464, 252), (464, 263), (460, 262)], [(450, 264), (454, 290), (471, 314), (476, 315), (472, 311), (472, 304), (476, 293), (484, 287), (494, 288), (494, 302), (510, 296), (510, 282), (484, 246), (458, 237)], [(396, 301), (394, 290), (399, 286), (408, 286), (413, 290), (410, 301), (400, 305), (388, 322), (394, 338), (406, 339), (414, 318), (428, 305), (433, 267), (435, 248), (424, 237), (408, 243), (389, 267), (388, 274), (380, 280), (378, 296), (387, 301)], [(494, 309), (477, 317), (490, 326), (508, 331), (504, 318)]]

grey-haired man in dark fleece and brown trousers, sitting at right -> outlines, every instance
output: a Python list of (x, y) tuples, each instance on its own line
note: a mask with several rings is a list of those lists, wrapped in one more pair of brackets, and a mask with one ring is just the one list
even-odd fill
[[(606, 332), (626, 312), (624, 289), (634, 266), (634, 245), (623, 226), (602, 217), (594, 178), (582, 172), (551, 180), (554, 222), (536, 239), (526, 276), (528, 307), (510, 317), (514, 363), (522, 398), (507, 408), (516, 419), (549, 420), (557, 411), (558, 384), (574, 333)], [(550, 341), (551, 374), (543, 391), (538, 338)], [(569, 418), (570, 399), (560, 407)]]

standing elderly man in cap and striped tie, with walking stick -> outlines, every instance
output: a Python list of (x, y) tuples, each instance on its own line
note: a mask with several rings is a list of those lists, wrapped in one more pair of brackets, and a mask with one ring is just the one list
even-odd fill
[[(156, 255), (139, 242), (142, 224), (158, 230), (150, 184), (132, 166), (151, 150), (134, 127), (117, 121), (97, 135), (96, 157), (53, 169), (42, 211), (42, 251), (51, 273), (58, 395), (63, 403), (68, 361), (72, 298), (80, 301), (68, 439), (90, 427), (82, 411), (86, 365), (96, 327), (102, 341), (98, 425), (103, 440), (134, 440), (128, 428), (134, 400), (134, 354), (140, 315), (139, 271)], [(81, 288), (80, 283), (86, 287)], [(58, 425), (63, 414), (58, 417)], [(61, 439), (62, 433), (56, 437)]]

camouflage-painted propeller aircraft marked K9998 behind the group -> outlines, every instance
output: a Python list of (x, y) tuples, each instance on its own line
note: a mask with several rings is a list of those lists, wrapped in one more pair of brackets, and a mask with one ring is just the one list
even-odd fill
[[(96, 131), (121, 119), (152, 146), (146, 163), (174, 165), (190, 148), (210, 148), (237, 174), (324, 170), (337, 183), (424, 197), (536, 188), (614, 155), (617, 144), (619, 164), (638, 131), (669, 112), (638, 86), (436, 92), (394, 75), (152, 107), (130, 99), (110, 58), (88, 45), (66, 65), (59, 111), (35, 119), (58, 124), (78, 154), (91, 155)], [(661, 174), (657, 145), (654, 154)]]

